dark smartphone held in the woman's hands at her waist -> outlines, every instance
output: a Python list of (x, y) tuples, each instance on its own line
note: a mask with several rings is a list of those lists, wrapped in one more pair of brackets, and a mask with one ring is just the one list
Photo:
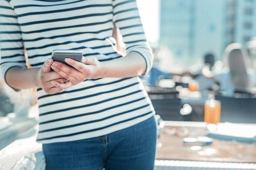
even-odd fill
[(72, 58), (76, 61), (81, 62), (82, 56), (84, 52), (82, 50), (53, 50), (52, 51), (52, 59), (53, 61), (59, 61), (64, 63), (65, 65), (68, 65), (69, 67), (72, 67), (67, 62), (65, 62), (65, 58)]

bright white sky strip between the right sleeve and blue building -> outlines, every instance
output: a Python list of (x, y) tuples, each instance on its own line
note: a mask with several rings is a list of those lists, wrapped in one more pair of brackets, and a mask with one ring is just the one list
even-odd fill
[(147, 40), (156, 44), (159, 39), (159, 0), (137, 0), (137, 4)]

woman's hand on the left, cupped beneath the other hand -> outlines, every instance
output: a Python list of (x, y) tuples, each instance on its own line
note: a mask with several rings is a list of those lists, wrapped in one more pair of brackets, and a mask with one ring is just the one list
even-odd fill
[(36, 81), (38, 82), (38, 86), (41, 87), (47, 94), (57, 94), (61, 92), (63, 89), (57, 88), (51, 82), (55, 80), (59, 83), (65, 83), (67, 79), (63, 78), (56, 71), (51, 70), (51, 65), (53, 63), (52, 58), (48, 58), (46, 62), (44, 62), (41, 69), (38, 71), (38, 76)]

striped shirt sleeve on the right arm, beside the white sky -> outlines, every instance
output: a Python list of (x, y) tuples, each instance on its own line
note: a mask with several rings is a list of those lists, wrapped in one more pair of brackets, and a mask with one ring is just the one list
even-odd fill
[(120, 29), (126, 53), (140, 53), (147, 64), (146, 73), (152, 67), (153, 54), (144, 34), (135, 0), (113, 0), (113, 22)]

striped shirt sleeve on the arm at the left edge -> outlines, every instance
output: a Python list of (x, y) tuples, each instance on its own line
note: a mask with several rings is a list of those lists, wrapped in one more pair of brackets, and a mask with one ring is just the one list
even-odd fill
[(3, 79), (11, 67), (26, 67), (18, 19), (9, 2), (4, 0), (0, 0), (0, 50), (0, 73)]

